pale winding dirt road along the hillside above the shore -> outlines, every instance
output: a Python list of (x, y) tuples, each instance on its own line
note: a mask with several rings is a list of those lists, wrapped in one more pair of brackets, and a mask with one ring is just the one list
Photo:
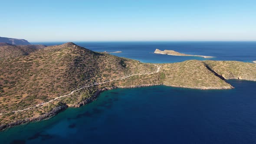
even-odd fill
[[(156, 72), (144, 73), (144, 74), (134, 74), (134, 75), (126, 76), (126, 77), (121, 78), (121, 79), (126, 79), (126, 78), (129, 78), (129, 77), (131, 77), (131, 76), (135, 76), (135, 75), (151, 75), (151, 74), (154, 74), (154, 73), (158, 73), (158, 72), (160, 71), (161, 66), (159, 66), (159, 65), (155, 65), (155, 66), (158, 67), (158, 70), (157, 70)], [(43, 104), (38, 104), (38, 105), (33, 106), (33, 107), (30, 107), (30, 108), (25, 108), (25, 109), (23, 109), (23, 110), (12, 111), (12, 112), (17, 113), (17, 112), (20, 112), (20, 111), (29, 110), (29, 109), (31, 109), (31, 108), (36, 108), (36, 107), (39, 107), (39, 106), (41, 106), (41, 105), (45, 105), (45, 104), (48, 104), (48, 103), (50, 103), (50, 102), (52, 102), (52, 101), (55, 101), (56, 99), (66, 97), (66, 96), (68, 96), (68, 95), (72, 95), (74, 92), (79, 91), (79, 90), (81, 90), (81, 89), (83, 89), (83, 88), (88, 88), (88, 87), (92, 87), (92, 86), (95, 86), (95, 85), (101, 85), (101, 84), (108, 83), (108, 82), (118, 81), (118, 80), (121, 80), (121, 79), (113, 79), (113, 80), (110, 80), (110, 81), (107, 81), (107, 82), (95, 83), (95, 84), (93, 84), (93, 85), (84, 86), (84, 87), (82, 87), (82, 88), (79, 88), (79, 89), (76, 89), (76, 90), (72, 91), (71, 93), (69, 93), (69, 94), (67, 94), (67, 95), (59, 96), (59, 97), (54, 98), (53, 100), (47, 101), (47, 102), (45, 102), (45, 103), (43, 103)], [(7, 113), (2, 113), (2, 114), (0, 114), (0, 115), (3, 115), (3, 114), (7, 114)]]

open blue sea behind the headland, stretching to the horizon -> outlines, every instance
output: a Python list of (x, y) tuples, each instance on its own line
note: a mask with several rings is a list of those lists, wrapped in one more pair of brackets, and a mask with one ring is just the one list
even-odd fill
[[(32, 44), (44, 44), (47, 46), (59, 45), (65, 42), (38, 42)], [(170, 56), (154, 54), (155, 49), (168, 49), (177, 52), (215, 56), (212, 60), (236, 60), (252, 62), (256, 60), (256, 42), (75, 42), (79, 46), (97, 52), (115, 52), (116, 56), (137, 59), (141, 62), (168, 63), (182, 62), (189, 59), (206, 60), (194, 56)]]

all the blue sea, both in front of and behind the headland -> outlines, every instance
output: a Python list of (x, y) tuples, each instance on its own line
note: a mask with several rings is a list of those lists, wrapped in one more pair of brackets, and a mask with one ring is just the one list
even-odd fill
[[(65, 42), (35, 42), (47, 46)], [(202, 57), (154, 54), (155, 49), (256, 60), (256, 42), (75, 42), (97, 52), (141, 62), (169, 63)], [(80, 108), (0, 132), (1, 144), (205, 144), (256, 143), (256, 82), (228, 80), (235, 89), (168, 86), (117, 88)]]

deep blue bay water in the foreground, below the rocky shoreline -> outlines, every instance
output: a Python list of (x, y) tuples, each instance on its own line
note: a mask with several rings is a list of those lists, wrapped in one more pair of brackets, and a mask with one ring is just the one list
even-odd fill
[(3, 144), (255, 143), (256, 82), (236, 89), (152, 86), (103, 92), (81, 108), (0, 133)]

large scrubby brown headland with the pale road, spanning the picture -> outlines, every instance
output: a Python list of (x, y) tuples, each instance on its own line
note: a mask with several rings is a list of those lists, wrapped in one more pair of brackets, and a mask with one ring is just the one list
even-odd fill
[(106, 90), (167, 85), (232, 89), (226, 79), (256, 81), (256, 64), (187, 60), (143, 63), (75, 43), (0, 46), (0, 130), (80, 107)]

